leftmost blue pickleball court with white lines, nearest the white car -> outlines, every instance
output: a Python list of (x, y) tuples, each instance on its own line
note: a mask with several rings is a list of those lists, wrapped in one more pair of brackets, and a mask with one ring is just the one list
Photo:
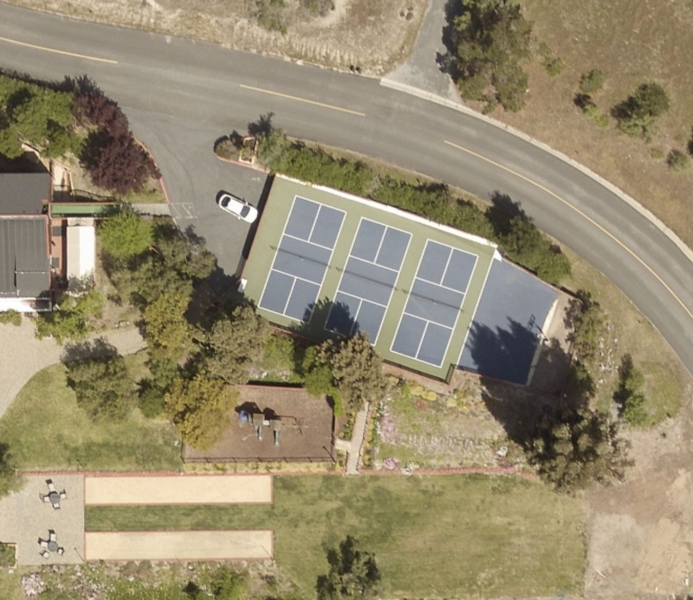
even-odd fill
[(343, 221), (341, 210), (295, 198), (259, 307), (310, 320)]

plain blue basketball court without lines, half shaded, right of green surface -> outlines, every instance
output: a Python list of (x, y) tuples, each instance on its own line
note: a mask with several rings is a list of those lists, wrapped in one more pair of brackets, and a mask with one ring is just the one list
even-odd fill
[(505, 261), (494, 261), (459, 359), (481, 375), (524, 385), (559, 292)]

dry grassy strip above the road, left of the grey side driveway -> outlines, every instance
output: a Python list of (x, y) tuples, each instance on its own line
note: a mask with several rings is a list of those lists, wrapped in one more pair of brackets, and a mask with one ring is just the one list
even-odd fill
[(277, 11), (286, 28), (268, 31), (246, 0), (16, 0), (28, 8), (88, 21), (194, 37), (224, 46), (383, 74), (409, 54), (428, 0), (335, 0), (325, 16), (300, 0)]

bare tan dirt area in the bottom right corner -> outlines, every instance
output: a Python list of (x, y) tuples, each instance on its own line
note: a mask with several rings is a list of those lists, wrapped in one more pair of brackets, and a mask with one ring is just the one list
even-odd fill
[(629, 434), (626, 483), (588, 495), (586, 596), (688, 594), (693, 576), (693, 411)]

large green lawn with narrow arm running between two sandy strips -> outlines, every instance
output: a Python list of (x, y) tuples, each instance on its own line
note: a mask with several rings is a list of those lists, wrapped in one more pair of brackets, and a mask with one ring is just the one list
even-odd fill
[(88, 531), (273, 529), (275, 557), (307, 594), (324, 544), (351, 533), (374, 551), (385, 597), (581, 594), (580, 500), (534, 481), (483, 476), (283, 476), (272, 506), (87, 508)]

